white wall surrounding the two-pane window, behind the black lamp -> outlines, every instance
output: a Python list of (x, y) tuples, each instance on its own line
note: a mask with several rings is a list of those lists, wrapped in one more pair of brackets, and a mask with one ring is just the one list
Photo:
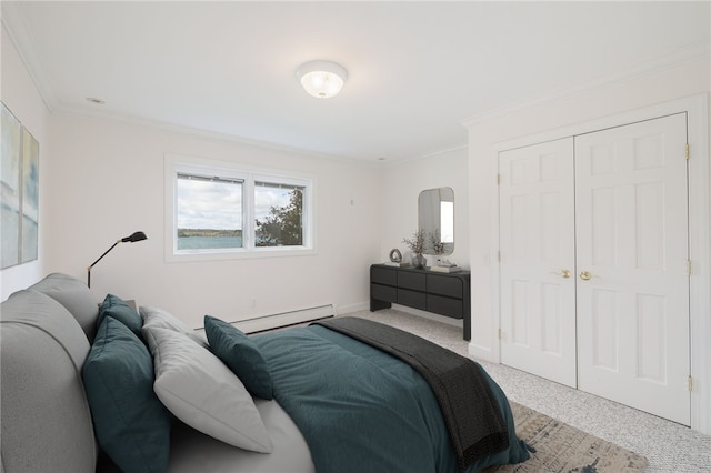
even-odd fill
[[(377, 167), (71, 117), (52, 118), (51, 141), (48, 271), (84, 279), (117, 239), (138, 230), (149, 238), (117, 246), (93, 268), (97, 299), (112, 292), (191, 326), (204, 314), (238, 321), (328, 303), (349, 311), (368, 300), (368, 264), (380, 248)], [(316, 178), (317, 254), (167, 263), (166, 153)]]

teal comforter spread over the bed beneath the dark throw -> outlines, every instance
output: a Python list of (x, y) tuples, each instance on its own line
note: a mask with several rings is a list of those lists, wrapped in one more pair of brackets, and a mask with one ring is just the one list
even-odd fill
[[(457, 472), (437, 399), (408, 364), (323, 326), (253, 338), (274, 397), (303, 434), (319, 473)], [(509, 430), (509, 446), (471, 465), (529, 457), (501, 389), (487, 375)]]

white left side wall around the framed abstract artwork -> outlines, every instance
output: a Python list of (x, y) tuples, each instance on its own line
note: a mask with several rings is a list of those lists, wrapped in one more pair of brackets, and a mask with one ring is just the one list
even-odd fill
[(11, 293), (33, 283), (44, 273), (43, 260), (47, 252), (47, 239), (44, 235), (47, 233), (43, 232), (42, 221), (44, 219), (44, 209), (47, 208), (46, 187), (48, 177), (42, 172), (42, 168), (52, 160), (52, 152), (48, 143), (49, 112), (4, 30), (4, 26), (1, 29), (2, 76), (0, 78), (0, 89), (2, 102), (40, 143), (40, 238), (38, 259), (0, 272), (0, 300), (6, 300)]

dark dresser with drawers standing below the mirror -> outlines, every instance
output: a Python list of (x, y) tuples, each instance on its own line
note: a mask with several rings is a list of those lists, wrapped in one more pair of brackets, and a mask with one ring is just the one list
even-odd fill
[(464, 340), (471, 333), (470, 272), (440, 273), (413, 268), (370, 266), (370, 311), (393, 303), (463, 319)]

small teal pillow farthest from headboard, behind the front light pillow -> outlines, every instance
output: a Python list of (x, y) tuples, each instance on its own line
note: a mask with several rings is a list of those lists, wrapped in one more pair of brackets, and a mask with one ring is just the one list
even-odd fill
[(267, 361), (250, 338), (231, 324), (210, 315), (204, 316), (204, 332), (212, 353), (237, 374), (249, 392), (257, 397), (273, 399)]

